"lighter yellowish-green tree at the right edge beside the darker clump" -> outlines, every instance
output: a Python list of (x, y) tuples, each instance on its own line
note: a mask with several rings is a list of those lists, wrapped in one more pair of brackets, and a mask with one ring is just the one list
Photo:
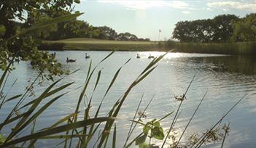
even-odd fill
[(256, 41), (256, 13), (235, 22), (233, 30), (231, 41)]

